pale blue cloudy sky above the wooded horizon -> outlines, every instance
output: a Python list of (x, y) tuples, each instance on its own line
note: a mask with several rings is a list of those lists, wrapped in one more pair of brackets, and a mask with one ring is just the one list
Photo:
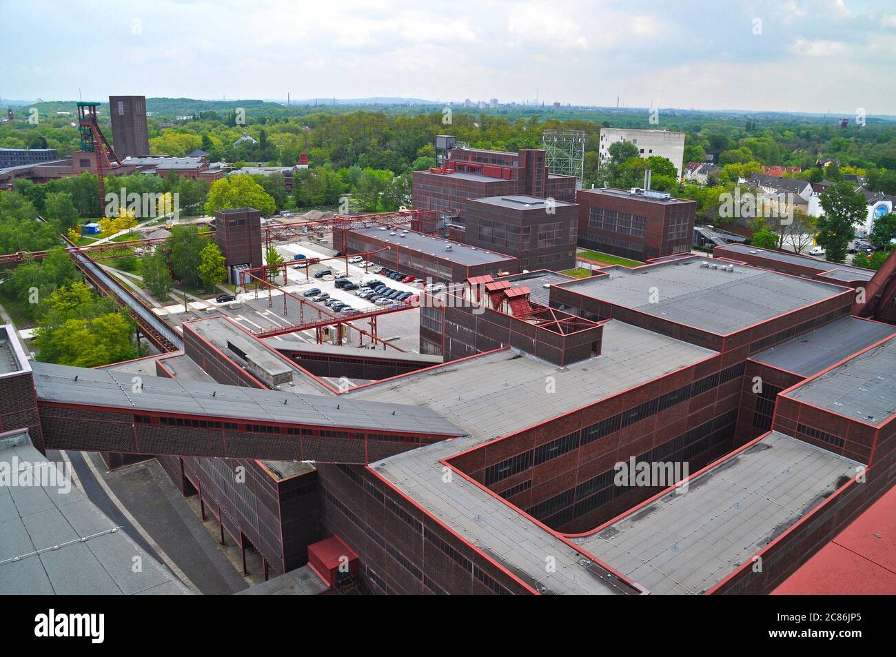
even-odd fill
[(893, 0), (0, 0), (0, 96), (896, 114)]

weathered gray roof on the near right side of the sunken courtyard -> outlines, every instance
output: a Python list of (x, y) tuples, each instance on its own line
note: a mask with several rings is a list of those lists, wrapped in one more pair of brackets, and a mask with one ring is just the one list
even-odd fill
[(711, 589), (857, 474), (857, 462), (771, 432), (599, 532), (573, 541), (655, 594)]

